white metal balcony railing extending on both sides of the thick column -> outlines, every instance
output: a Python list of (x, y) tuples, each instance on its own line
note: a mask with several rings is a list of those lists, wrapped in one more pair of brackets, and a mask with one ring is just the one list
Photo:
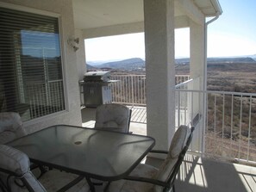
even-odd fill
[[(145, 75), (116, 75), (112, 101), (146, 105)], [(187, 79), (187, 78), (186, 78)], [(178, 82), (178, 80), (177, 80)], [(256, 162), (256, 94), (198, 90), (200, 79), (176, 85), (176, 127), (196, 126), (191, 150), (247, 163)]]

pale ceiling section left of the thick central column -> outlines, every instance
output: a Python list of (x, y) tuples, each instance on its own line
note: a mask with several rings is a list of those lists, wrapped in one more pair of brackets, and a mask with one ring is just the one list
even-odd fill
[(76, 28), (143, 21), (143, 0), (73, 0)]

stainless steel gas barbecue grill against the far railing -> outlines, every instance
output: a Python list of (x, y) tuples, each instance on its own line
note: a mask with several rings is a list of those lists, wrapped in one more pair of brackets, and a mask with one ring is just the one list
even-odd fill
[(96, 108), (101, 104), (112, 102), (111, 83), (109, 71), (90, 71), (84, 74), (83, 84), (84, 106)]

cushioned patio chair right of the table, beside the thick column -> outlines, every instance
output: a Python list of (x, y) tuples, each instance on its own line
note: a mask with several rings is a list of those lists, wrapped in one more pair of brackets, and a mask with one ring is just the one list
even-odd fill
[(159, 192), (175, 191), (174, 181), (184, 155), (190, 146), (194, 127), (180, 126), (173, 136), (169, 152), (154, 150), (152, 152), (166, 153), (167, 158), (157, 169), (149, 164), (139, 164), (135, 170), (120, 180), (109, 183), (107, 192)]

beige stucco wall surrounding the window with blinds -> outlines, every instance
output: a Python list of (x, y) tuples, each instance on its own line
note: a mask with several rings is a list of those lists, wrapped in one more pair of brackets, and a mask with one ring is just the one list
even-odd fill
[(55, 115), (28, 121), (24, 124), (28, 133), (38, 131), (42, 128), (56, 124), (82, 125), (80, 97), (78, 90), (78, 69), (76, 53), (72, 47), (67, 45), (67, 39), (74, 36), (75, 28), (73, 22), (72, 0), (1, 0), (0, 3), (10, 3), (10, 8), (19, 8), (22, 10), (33, 9), (33, 11), (42, 14), (47, 11), (58, 14), (60, 19), (61, 43), (62, 43), (62, 60), (64, 81), (66, 89), (66, 111), (59, 112)]

